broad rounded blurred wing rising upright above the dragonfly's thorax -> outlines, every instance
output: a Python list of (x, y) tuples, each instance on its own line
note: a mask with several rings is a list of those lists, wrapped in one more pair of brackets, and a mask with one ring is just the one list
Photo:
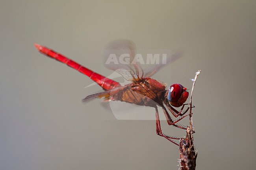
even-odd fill
[(135, 44), (130, 40), (111, 42), (104, 53), (104, 65), (128, 81), (143, 77), (143, 70), (135, 58)]

